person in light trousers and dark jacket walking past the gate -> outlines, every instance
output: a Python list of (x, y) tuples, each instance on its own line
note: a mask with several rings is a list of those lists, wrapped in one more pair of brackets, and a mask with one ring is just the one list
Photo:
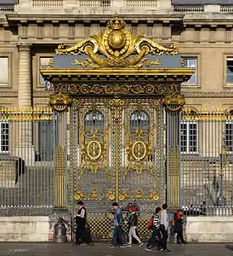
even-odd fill
[(128, 208), (129, 211), (129, 219), (128, 219), (128, 226), (129, 226), (129, 231), (128, 231), (128, 246), (132, 247), (132, 238), (139, 243), (139, 247), (143, 246), (142, 241), (140, 241), (139, 236), (137, 236), (136, 230), (138, 226), (138, 217), (136, 213), (136, 209), (132, 206)]

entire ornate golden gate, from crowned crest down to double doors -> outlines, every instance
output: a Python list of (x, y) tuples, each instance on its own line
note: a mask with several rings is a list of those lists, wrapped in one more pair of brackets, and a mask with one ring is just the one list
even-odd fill
[(108, 26), (70, 48), (60, 45), (42, 70), (54, 84), (50, 105), (59, 119), (71, 107), (70, 167), (60, 177), (68, 189), (58, 190), (68, 200), (57, 204), (74, 212), (85, 201), (97, 239), (111, 236), (113, 201), (137, 204), (140, 222), (156, 205), (178, 203), (180, 83), (194, 72), (174, 45), (133, 35), (117, 16)]

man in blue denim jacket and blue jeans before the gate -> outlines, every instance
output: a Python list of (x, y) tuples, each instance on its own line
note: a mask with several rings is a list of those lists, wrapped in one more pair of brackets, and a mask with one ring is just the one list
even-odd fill
[(127, 243), (123, 236), (123, 214), (120, 207), (118, 207), (117, 202), (114, 202), (112, 204), (112, 210), (114, 211), (114, 219), (113, 219), (113, 225), (114, 225), (114, 231), (113, 236), (111, 240), (111, 244), (109, 247), (116, 247), (117, 241), (120, 242), (120, 247), (127, 247)]

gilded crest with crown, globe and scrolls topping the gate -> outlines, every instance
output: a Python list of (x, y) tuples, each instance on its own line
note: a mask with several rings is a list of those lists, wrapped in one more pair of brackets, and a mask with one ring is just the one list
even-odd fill
[[(115, 16), (108, 22), (109, 29), (99, 35), (83, 39), (77, 44), (65, 49), (60, 44), (56, 49), (57, 55), (88, 55), (84, 61), (75, 58), (73, 66), (82, 67), (151, 67), (162, 65), (160, 58), (150, 61), (145, 55), (177, 55), (178, 49), (174, 44), (164, 47), (150, 38), (134, 35), (125, 29), (126, 23)], [(131, 55), (131, 56), (130, 56)]]

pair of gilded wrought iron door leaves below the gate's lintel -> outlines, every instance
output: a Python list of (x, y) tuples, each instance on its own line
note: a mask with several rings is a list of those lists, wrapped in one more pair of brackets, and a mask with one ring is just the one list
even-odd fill
[(134, 202), (144, 222), (164, 201), (163, 111), (156, 99), (74, 101), (70, 206), (85, 201), (95, 238), (111, 236), (113, 201)]

